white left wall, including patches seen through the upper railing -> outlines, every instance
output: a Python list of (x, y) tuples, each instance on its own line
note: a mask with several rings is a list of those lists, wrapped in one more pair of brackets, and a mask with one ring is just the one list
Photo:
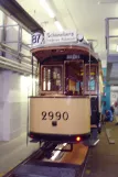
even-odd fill
[[(1, 14), (0, 14), (1, 15)], [(17, 24), (8, 18), (7, 24)], [(7, 42), (18, 41), (19, 27), (7, 27)], [(23, 31), (24, 43), (30, 43), (31, 35)], [(7, 43), (18, 49), (17, 43)], [(25, 55), (30, 52), (22, 48)], [(10, 59), (18, 58), (7, 54)], [(9, 141), (26, 131), (28, 119), (28, 90), (31, 92), (31, 78), (10, 70), (0, 71), (0, 140)]]

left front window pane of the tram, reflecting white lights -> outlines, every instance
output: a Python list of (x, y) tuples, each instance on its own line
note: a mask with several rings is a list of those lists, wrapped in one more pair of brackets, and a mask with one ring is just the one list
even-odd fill
[(42, 67), (42, 91), (62, 91), (62, 66)]

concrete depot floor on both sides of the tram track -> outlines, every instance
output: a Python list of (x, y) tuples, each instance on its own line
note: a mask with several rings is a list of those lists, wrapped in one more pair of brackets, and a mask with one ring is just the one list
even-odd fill
[[(109, 144), (106, 129), (110, 130), (115, 144)], [(89, 150), (84, 177), (118, 177), (118, 125), (106, 123), (99, 140), (97, 146)], [(7, 143), (0, 142), (0, 177), (37, 148), (39, 144), (26, 146), (25, 134)]]

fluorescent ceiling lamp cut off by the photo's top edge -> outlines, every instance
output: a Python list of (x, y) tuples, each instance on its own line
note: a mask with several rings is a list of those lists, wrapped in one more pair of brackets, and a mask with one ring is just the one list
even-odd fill
[(55, 18), (53, 10), (46, 0), (40, 0), (40, 4), (44, 8), (44, 10), (49, 13), (50, 18)]

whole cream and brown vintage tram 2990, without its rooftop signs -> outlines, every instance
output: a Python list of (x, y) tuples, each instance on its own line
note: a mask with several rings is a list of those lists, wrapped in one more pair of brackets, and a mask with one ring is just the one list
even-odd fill
[(89, 139), (92, 125), (99, 122), (100, 60), (88, 45), (75, 43), (41, 44), (31, 52), (41, 91), (30, 97), (30, 137), (58, 143)]

